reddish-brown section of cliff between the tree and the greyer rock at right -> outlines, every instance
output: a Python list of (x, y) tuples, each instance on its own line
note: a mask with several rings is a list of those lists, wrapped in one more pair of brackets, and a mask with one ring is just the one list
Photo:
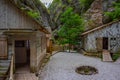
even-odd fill
[(85, 29), (89, 30), (103, 24), (102, 0), (95, 0), (84, 14), (86, 19)]

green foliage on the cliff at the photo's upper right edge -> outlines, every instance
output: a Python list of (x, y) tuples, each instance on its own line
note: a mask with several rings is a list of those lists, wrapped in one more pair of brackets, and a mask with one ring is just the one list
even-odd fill
[(111, 20), (116, 20), (120, 18), (120, 3), (113, 3), (114, 11), (105, 12), (105, 15), (108, 16)]

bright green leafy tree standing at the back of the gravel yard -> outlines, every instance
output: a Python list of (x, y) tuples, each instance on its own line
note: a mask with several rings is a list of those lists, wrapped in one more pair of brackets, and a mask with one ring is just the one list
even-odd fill
[(61, 27), (57, 32), (59, 36), (58, 42), (62, 45), (69, 44), (70, 51), (70, 45), (76, 45), (79, 42), (79, 35), (84, 30), (84, 20), (69, 7), (61, 15), (60, 21)]

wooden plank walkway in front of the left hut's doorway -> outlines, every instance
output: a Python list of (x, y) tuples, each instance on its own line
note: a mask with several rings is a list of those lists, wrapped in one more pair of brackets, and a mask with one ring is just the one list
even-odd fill
[(38, 80), (34, 73), (30, 73), (28, 66), (20, 67), (15, 72), (15, 80)]

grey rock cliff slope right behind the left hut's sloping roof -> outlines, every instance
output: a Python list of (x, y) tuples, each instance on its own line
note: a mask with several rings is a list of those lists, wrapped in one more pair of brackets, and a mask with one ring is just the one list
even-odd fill
[(47, 8), (40, 2), (40, 0), (11, 0), (11, 1), (26, 13), (36, 12), (36, 14), (38, 14), (38, 17), (33, 18), (36, 19), (40, 24), (42, 24), (42, 26), (46, 27), (49, 31), (51, 31), (50, 27), (54, 26), (53, 22), (50, 18)]

